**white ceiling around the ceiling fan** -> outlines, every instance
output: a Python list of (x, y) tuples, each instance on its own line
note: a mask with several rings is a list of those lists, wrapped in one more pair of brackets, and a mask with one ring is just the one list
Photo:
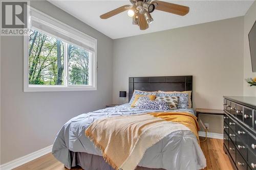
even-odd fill
[(89, 26), (109, 36), (112, 39), (129, 37), (139, 34), (152, 33), (173, 28), (196, 25), (237, 16), (243, 16), (253, 3), (251, 1), (166, 1), (188, 6), (190, 11), (185, 16), (174, 15), (155, 10), (151, 15), (154, 22), (150, 28), (141, 31), (138, 26), (132, 25), (132, 18), (126, 12), (109, 19), (100, 19), (99, 16), (122, 5), (129, 4), (128, 0), (121, 1), (54, 1), (50, 3), (70, 13)]

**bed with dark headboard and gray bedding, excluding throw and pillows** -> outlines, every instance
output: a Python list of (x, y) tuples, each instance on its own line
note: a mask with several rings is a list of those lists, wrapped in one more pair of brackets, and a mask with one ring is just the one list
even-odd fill
[[(192, 76), (131, 77), (129, 78), (129, 101), (132, 99), (134, 90), (189, 91), (192, 89)], [(79, 165), (86, 170), (112, 170), (114, 168), (105, 162), (100, 150), (85, 135), (87, 128), (96, 120), (105, 117), (140, 115), (150, 112), (167, 111), (131, 108), (131, 104), (127, 103), (80, 114), (70, 119), (60, 129), (56, 135), (52, 153), (69, 169)], [(173, 112), (195, 115), (191, 108), (176, 109)], [(206, 166), (206, 160), (196, 135), (189, 130), (176, 130), (148, 148), (137, 165), (136, 169), (141, 170), (202, 169)]]

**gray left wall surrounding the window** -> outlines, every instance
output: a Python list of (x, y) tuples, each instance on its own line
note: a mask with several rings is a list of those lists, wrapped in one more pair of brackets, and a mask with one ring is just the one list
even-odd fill
[(46, 1), (31, 6), (98, 40), (97, 91), (23, 92), (23, 37), (1, 37), (1, 164), (48, 147), (67, 120), (112, 103), (113, 40)]

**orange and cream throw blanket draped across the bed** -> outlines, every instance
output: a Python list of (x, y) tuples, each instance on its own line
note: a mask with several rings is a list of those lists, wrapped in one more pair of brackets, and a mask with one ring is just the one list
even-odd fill
[(186, 112), (102, 118), (90, 125), (86, 136), (113, 168), (133, 170), (148, 148), (178, 130), (190, 130), (199, 141), (197, 117)]

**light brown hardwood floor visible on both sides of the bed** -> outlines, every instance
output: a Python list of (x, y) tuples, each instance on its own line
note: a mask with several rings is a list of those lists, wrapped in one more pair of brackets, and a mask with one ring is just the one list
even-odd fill
[[(207, 167), (203, 170), (231, 170), (232, 166), (228, 156), (223, 152), (223, 140), (208, 138), (205, 142), (201, 142), (201, 148), (207, 160)], [(62, 163), (57, 161), (52, 154), (47, 154), (14, 170), (67, 170)], [(79, 167), (72, 170), (82, 170)], [(103, 169), (102, 169), (103, 170)]]

